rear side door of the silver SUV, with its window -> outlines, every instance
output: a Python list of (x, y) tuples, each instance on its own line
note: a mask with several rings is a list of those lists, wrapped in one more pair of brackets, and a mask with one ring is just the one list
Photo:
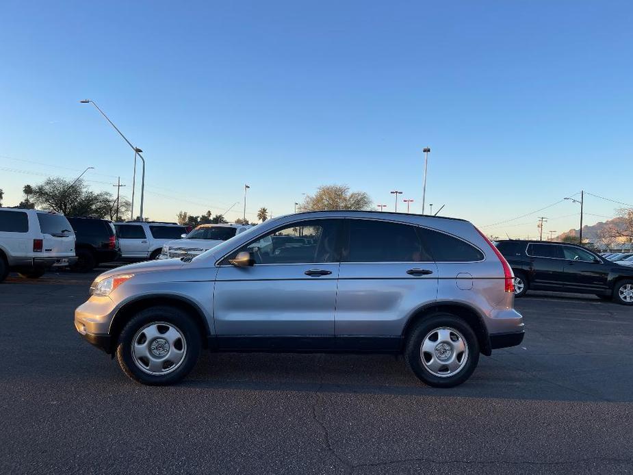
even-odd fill
[(437, 265), (417, 227), (346, 219), (346, 244), (336, 304), (337, 346), (397, 350), (403, 320), (437, 298)]

